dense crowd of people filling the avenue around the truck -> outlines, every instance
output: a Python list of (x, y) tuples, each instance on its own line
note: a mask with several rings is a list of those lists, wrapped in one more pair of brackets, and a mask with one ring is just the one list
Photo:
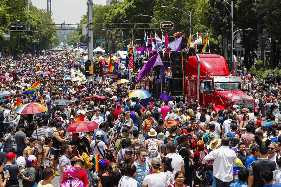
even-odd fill
[[(61, 187), (281, 186), (279, 75), (257, 80), (242, 73), (255, 108), (215, 112), (196, 102), (143, 103), (129, 97), (134, 84), (108, 77), (66, 80), (78, 68), (69, 52), (0, 61), (0, 89), (12, 93), (0, 102), (0, 187), (53, 187), (54, 177)], [(119, 73), (126, 78), (126, 70)], [(26, 93), (38, 80), (37, 95)], [(71, 103), (56, 104), (63, 99)], [(48, 110), (20, 114), (18, 102)], [(68, 132), (81, 116), (98, 128)]]

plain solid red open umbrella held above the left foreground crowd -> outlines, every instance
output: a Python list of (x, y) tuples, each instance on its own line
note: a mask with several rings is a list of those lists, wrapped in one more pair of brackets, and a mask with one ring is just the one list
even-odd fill
[(98, 129), (99, 124), (94, 121), (81, 121), (69, 125), (67, 132), (90, 132)]

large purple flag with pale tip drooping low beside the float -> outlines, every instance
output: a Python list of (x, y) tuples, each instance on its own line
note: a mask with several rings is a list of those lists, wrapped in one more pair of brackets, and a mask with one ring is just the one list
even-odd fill
[(163, 62), (161, 60), (161, 57), (159, 55), (159, 53), (157, 53), (156, 55), (154, 55), (153, 57), (151, 57), (147, 63), (143, 66), (143, 68), (141, 68), (140, 73), (138, 74), (138, 79), (137, 82), (140, 82), (141, 79), (143, 79), (143, 77), (148, 74), (148, 72), (157, 65), (163, 65)]

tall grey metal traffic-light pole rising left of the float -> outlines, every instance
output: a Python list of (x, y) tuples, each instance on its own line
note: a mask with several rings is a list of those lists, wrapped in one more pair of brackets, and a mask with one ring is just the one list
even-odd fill
[[(91, 60), (92, 67), (94, 66), (94, 55), (93, 55), (93, 1), (88, 0), (88, 60)], [(90, 28), (89, 28), (90, 27)], [(94, 82), (94, 74), (92, 74), (91, 79)], [(88, 77), (90, 79), (90, 77)]]

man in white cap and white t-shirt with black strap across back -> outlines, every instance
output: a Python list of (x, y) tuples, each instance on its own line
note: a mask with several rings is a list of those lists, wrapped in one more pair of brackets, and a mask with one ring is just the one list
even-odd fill
[(102, 131), (97, 131), (96, 133), (97, 139), (93, 140), (91, 142), (91, 148), (92, 148), (92, 155), (95, 156), (97, 154), (100, 154), (100, 158), (104, 158), (105, 152), (106, 151), (112, 151), (114, 148), (107, 148), (105, 143), (101, 140), (102, 139)]

